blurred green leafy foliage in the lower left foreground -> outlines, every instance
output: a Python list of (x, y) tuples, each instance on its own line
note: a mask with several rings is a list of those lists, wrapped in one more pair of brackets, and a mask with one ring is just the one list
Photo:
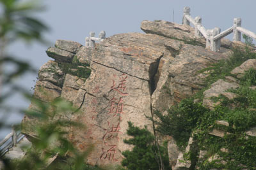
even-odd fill
[[(88, 166), (84, 163), (86, 156), (92, 151), (93, 145), (84, 152), (79, 152), (70, 141), (67, 140), (68, 127), (79, 127), (86, 131), (86, 127), (76, 122), (62, 120), (61, 117), (54, 120), (49, 117), (49, 110), (54, 110), (55, 116), (67, 113), (77, 114), (77, 108), (73, 108), (70, 103), (61, 98), (57, 98), (52, 103), (42, 103), (38, 99), (32, 99), (37, 104), (38, 110), (28, 110), (30, 118), (38, 120), (36, 133), (38, 138), (33, 139), (33, 145), (22, 160), (4, 160), (5, 169), (31, 170), (31, 169), (64, 169), (64, 170), (84, 170), (100, 169), (99, 167)], [(48, 166), (47, 160), (54, 155), (58, 157)], [(72, 155), (72, 157), (68, 156)]]

